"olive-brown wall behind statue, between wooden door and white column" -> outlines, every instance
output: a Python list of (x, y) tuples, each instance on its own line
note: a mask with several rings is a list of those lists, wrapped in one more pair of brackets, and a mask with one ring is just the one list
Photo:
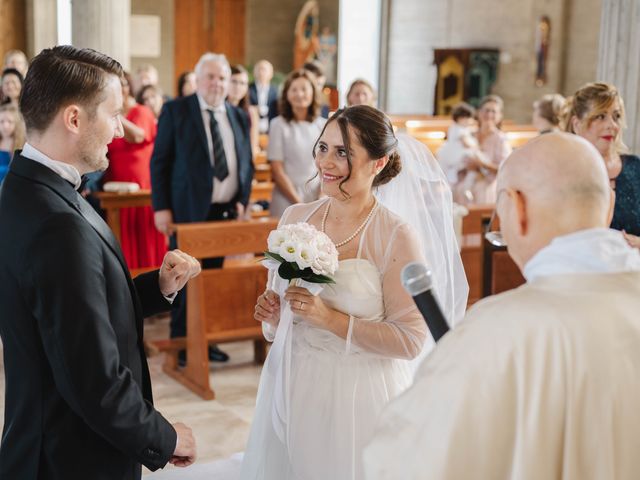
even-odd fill
[[(293, 30), (305, 0), (247, 0), (246, 59), (248, 66), (266, 58), (283, 74), (293, 64)], [(338, 34), (338, 0), (318, 0), (320, 28)]]

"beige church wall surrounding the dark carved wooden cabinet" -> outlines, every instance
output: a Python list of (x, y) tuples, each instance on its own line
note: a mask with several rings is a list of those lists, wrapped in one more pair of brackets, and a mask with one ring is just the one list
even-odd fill
[[(493, 92), (505, 100), (506, 116), (529, 122), (531, 105), (539, 96), (566, 93), (565, 84), (573, 88), (595, 74), (600, 0), (581, 0), (580, 9), (571, 8), (572, 3), (572, 0), (391, 0), (387, 110), (433, 113), (436, 82), (433, 48), (489, 47), (501, 51)], [(542, 15), (550, 17), (552, 30), (548, 83), (538, 87), (535, 39)], [(588, 15), (592, 18), (587, 21)], [(585, 28), (585, 21), (589, 28)], [(587, 47), (591, 44), (596, 46)]]

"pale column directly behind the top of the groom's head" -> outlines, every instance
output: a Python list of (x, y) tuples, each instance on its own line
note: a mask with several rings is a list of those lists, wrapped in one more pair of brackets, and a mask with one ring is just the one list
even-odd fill
[(129, 69), (130, 16), (131, 0), (73, 0), (73, 44), (105, 53)]

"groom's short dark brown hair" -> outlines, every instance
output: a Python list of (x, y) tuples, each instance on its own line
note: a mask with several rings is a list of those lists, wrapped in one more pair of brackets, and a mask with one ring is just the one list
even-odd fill
[(32, 61), (20, 96), (27, 132), (43, 132), (60, 108), (77, 103), (95, 112), (109, 74), (122, 65), (90, 48), (63, 45), (42, 50)]

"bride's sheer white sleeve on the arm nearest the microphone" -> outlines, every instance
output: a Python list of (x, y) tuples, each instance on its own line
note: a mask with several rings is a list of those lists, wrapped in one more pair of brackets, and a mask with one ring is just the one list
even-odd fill
[(402, 287), (400, 272), (409, 262), (424, 261), (422, 248), (409, 225), (388, 211), (378, 213), (366, 232), (362, 257), (380, 271), (385, 314), (382, 321), (351, 316), (347, 349), (352, 343), (372, 353), (412, 359), (422, 350), (427, 327), (413, 299)]

